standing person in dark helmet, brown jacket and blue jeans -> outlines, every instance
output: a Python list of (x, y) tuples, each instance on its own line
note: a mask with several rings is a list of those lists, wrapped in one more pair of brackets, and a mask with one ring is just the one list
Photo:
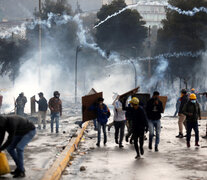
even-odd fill
[(56, 122), (56, 133), (59, 133), (59, 119), (62, 116), (62, 101), (60, 93), (55, 91), (54, 97), (49, 100), (49, 109), (51, 111), (51, 133), (53, 133), (53, 123)]

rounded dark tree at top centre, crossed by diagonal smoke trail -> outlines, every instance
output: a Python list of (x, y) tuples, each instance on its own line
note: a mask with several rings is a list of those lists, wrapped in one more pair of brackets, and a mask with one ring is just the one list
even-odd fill
[[(111, 4), (103, 5), (97, 13), (99, 19), (97, 24), (125, 7), (124, 0), (113, 0)], [(147, 35), (144, 24), (137, 10), (127, 9), (97, 27), (95, 33), (97, 44), (105, 50), (124, 52), (128, 55), (135, 52), (133, 47), (141, 52), (142, 43)]]

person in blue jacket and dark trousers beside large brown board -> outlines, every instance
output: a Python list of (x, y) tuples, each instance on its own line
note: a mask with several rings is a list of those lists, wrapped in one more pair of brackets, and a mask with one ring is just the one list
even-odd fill
[(89, 110), (95, 111), (97, 114), (97, 122), (98, 122), (98, 140), (96, 145), (99, 147), (101, 142), (101, 128), (104, 134), (104, 145), (107, 143), (107, 135), (106, 135), (106, 123), (110, 116), (109, 108), (106, 104), (103, 103), (103, 98), (98, 98), (98, 101), (93, 104)]

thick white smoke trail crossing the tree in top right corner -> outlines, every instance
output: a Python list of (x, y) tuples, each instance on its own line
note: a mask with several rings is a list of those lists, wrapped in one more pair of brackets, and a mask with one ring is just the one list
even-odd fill
[(175, 7), (169, 4), (167, 8), (173, 11), (177, 11), (179, 14), (186, 15), (186, 16), (194, 16), (196, 13), (199, 13), (199, 12), (207, 13), (207, 8), (205, 7), (199, 7), (199, 8), (194, 7), (192, 10), (185, 11), (185, 10), (182, 10), (178, 7)]

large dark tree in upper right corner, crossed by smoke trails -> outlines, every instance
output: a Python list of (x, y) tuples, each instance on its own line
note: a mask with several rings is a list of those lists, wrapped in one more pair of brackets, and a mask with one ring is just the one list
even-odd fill
[[(182, 10), (192, 10), (194, 7), (207, 7), (204, 0), (169, 0), (169, 4)], [(194, 16), (186, 16), (166, 8), (166, 19), (163, 27), (158, 30), (155, 54), (173, 52), (195, 53), (205, 49), (203, 34), (207, 30), (207, 14), (199, 12)], [(189, 79), (195, 64), (200, 57), (170, 58), (168, 73), (180, 79)]]

